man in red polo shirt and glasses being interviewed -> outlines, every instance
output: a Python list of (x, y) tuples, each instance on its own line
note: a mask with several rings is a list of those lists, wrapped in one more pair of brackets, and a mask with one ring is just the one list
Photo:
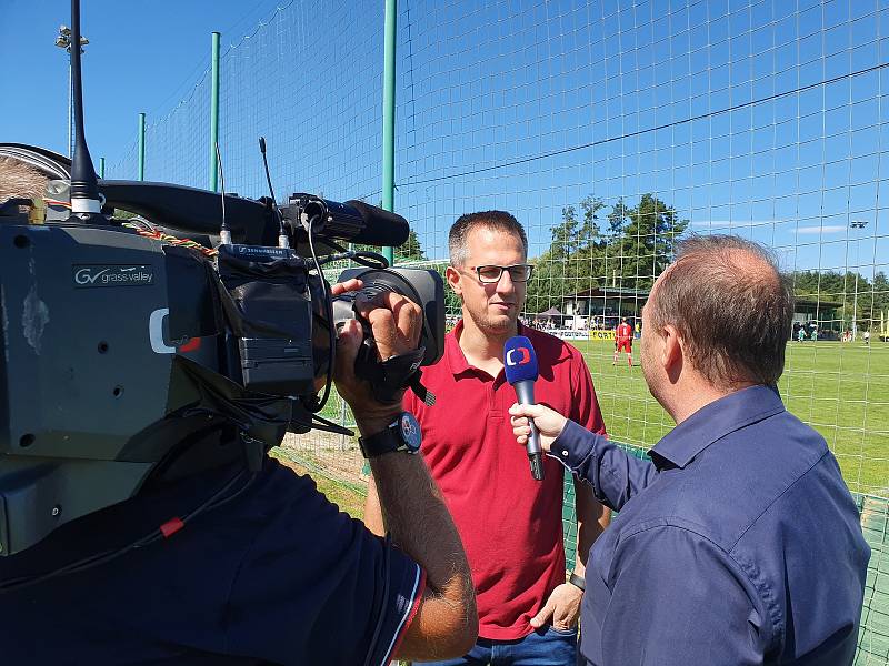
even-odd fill
[[(537, 401), (605, 433), (592, 380), (580, 352), (518, 322), (531, 266), (525, 230), (512, 215), (463, 215), (448, 244), (447, 279), (463, 319), (448, 334), (443, 359), (423, 371), (437, 403), (428, 406), (408, 392), (404, 408), (420, 421), (421, 451), (467, 551), (479, 640), (461, 659), (438, 664), (573, 666), (587, 554), (609, 514), (589, 485), (575, 483), (577, 563), (573, 583), (566, 583), (563, 467), (545, 458), (545, 478), (535, 481), (515, 445), (508, 410), (516, 391), (503, 376), (503, 343), (527, 335), (540, 367)], [(373, 483), (364, 521), (382, 534)]]

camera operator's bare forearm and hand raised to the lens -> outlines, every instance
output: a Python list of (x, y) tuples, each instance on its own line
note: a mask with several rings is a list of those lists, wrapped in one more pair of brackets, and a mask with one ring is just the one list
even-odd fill
[[(357, 289), (357, 281), (333, 287), (333, 293)], [(421, 311), (391, 292), (373, 303), (357, 303), (370, 323), (381, 359), (417, 347)], [(354, 320), (339, 334), (337, 389), (352, 407), (362, 436), (383, 431), (401, 412), (401, 401), (377, 402), (370, 386), (354, 376), (361, 329)], [(387, 453), (370, 461), (386, 524), (392, 542), (426, 571), (426, 591), (397, 656), (440, 659), (469, 652), (478, 633), (478, 614), (466, 553), (453, 521), (429, 475), (422, 456)]]

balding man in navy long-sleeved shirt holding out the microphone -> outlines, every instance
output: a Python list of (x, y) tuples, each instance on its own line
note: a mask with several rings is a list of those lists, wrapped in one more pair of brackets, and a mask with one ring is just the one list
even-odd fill
[(587, 567), (580, 663), (851, 665), (870, 555), (825, 440), (777, 392), (793, 299), (770, 254), (690, 239), (642, 312), (677, 426), (637, 460), (542, 405), (541, 445), (620, 511)]

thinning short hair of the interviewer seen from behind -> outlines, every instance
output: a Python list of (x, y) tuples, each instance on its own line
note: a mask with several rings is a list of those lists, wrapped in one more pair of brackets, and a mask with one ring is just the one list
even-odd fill
[(708, 381), (775, 385), (793, 320), (790, 281), (773, 254), (732, 235), (681, 241), (649, 302), (657, 331), (671, 324)]

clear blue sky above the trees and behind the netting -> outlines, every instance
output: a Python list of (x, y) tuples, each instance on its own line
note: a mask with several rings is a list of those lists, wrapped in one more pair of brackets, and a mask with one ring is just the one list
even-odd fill
[[(0, 139), (63, 152), (68, 2), (0, 2), (1, 82), (22, 99), (0, 107)], [(144, 111), (147, 179), (207, 186), (219, 30), (229, 189), (264, 193), (262, 133), (279, 199), (376, 203), (381, 4), (83, 0), (93, 159), (134, 178)], [(789, 269), (886, 270), (886, 4), (401, 0), (396, 208), (432, 256), (457, 215), (489, 208), (513, 211), (538, 254), (563, 206), (655, 192), (693, 230), (762, 241)]]

